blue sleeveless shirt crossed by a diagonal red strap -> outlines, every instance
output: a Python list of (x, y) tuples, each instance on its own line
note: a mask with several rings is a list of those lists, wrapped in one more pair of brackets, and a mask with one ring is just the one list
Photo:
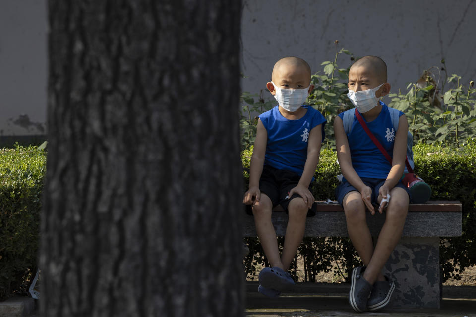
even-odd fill
[[(400, 111), (399, 116), (403, 114)], [(344, 122), (344, 112), (339, 113), (339, 117)], [(365, 118), (363, 120), (365, 121)], [(365, 121), (365, 123), (390, 157), (393, 157), (393, 144), (397, 131), (393, 128), (388, 106), (383, 104), (377, 118), (372, 122)], [(357, 175), (359, 177), (386, 179), (392, 166), (362, 128), (355, 114), (347, 139), (351, 151), (352, 167), (354, 167)]]

